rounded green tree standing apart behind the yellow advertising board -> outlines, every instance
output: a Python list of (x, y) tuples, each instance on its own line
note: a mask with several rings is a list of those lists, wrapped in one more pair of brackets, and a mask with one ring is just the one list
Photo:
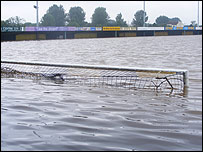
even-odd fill
[(97, 7), (92, 15), (93, 26), (106, 26), (109, 20), (109, 15), (106, 12), (106, 8)]

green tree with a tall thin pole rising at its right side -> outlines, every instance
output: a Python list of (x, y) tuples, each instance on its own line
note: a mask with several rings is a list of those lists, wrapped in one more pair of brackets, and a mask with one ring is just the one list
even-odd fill
[(148, 20), (147, 13), (143, 10), (139, 10), (134, 14), (134, 19), (132, 21), (133, 26), (143, 26), (144, 25), (144, 14), (145, 14), (145, 22)]

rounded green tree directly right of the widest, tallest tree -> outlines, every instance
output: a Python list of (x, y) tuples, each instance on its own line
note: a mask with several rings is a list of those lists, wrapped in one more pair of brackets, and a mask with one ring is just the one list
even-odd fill
[(71, 7), (67, 15), (69, 26), (85, 26), (85, 12), (81, 7)]

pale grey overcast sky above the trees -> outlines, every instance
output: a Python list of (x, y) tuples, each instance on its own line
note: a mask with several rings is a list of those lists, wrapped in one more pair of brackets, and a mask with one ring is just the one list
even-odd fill
[[(39, 1), (39, 21), (53, 4), (63, 5), (66, 13), (71, 7), (80, 6), (86, 13), (86, 21), (91, 22), (95, 8), (105, 7), (110, 19), (121, 13), (128, 24), (132, 22), (134, 14), (143, 10), (144, 1)], [(19, 16), (26, 22), (36, 23), (36, 1), (1, 1), (1, 20)], [(148, 23), (154, 23), (160, 15), (169, 18), (178, 17), (184, 24), (197, 22), (198, 1), (145, 1), (145, 11)], [(202, 1), (199, 1), (199, 24), (202, 25)]]

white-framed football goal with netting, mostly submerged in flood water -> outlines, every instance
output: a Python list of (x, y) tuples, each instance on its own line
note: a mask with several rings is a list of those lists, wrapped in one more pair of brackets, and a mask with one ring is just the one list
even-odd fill
[[(59, 77), (55, 77), (59, 76)], [(52, 79), (63, 83), (184, 93), (187, 70), (1, 61), (1, 77)]]

